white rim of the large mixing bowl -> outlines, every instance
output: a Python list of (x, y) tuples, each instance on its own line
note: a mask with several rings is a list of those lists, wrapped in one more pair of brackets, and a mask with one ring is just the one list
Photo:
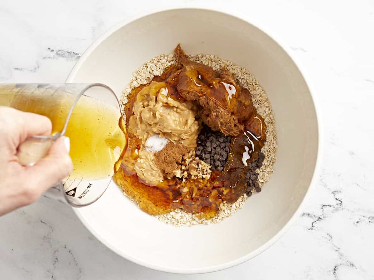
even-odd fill
[[(102, 43), (106, 38), (108, 38), (111, 34), (122, 28), (123, 26), (140, 19), (144, 16), (152, 15), (159, 12), (166, 12), (170, 10), (184, 10), (184, 9), (198, 9), (198, 10), (207, 10), (212, 12), (218, 12), (223, 13), (229, 16), (233, 16), (237, 19), (240, 19), (247, 24), (250, 24), (254, 26), (255, 28), (258, 28), (260, 31), (264, 32), (266, 35), (268, 35), (270, 38), (272, 38), (284, 51), (285, 53), (290, 57), (292, 62), (295, 63), (296, 67), (301, 73), (301, 76), (304, 78), (304, 81), (309, 88), (310, 96), (312, 97), (312, 102), (315, 108), (316, 113), (316, 119), (317, 119), (317, 132), (318, 132), (318, 146), (317, 146), (317, 157), (316, 157), (316, 163), (315, 168), (313, 171), (312, 180), (310, 181), (309, 187), (303, 197), (303, 199), (300, 202), (300, 205), (296, 209), (295, 213), (292, 215), (292, 217), (288, 220), (288, 222), (279, 230), (271, 239), (269, 239), (266, 243), (264, 243), (262, 246), (257, 248), (256, 250), (249, 252), (248, 254), (233, 259), (229, 262), (224, 262), (222, 264), (218, 265), (212, 265), (209, 267), (203, 267), (203, 268), (173, 268), (168, 267), (168, 265), (155, 265), (153, 263), (143, 261), (142, 259), (139, 259), (137, 257), (134, 257), (132, 255), (126, 254), (119, 249), (117, 249), (115, 246), (112, 246), (107, 240), (105, 240), (104, 237), (100, 236), (94, 228), (89, 225), (89, 223), (85, 220), (85, 217), (80, 213), (79, 208), (73, 208), (73, 211), (77, 215), (77, 217), (80, 219), (80, 221), (85, 225), (85, 227), (95, 236), (101, 243), (103, 243), (105, 246), (107, 246), (109, 249), (111, 249), (113, 252), (117, 253), (118, 255), (122, 256), (123, 258), (128, 259), (129, 261), (135, 262), (136, 264), (142, 265), (144, 267), (152, 268), (154, 270), (168, 272), (168, 273), (179, 273), (179, 274), (199, 274), (199, 273), (209, 273), (219, 270), (224, 270), (226, 268), (234, 267), (236, 265), (242, 264), (245, 261), (248, 261), (249, 259), (254, 258), (255, 256), (259, 255), (260, 253), (264, 252), (270, 246), (272, 246), (276, 241), (278, 241), (283, 234), (286, 233), (286, 231), (289, 230), (292, 224), (294, 224), (295, 220), (300, 216), (301, 210), (303, 209), (304, 204), (306, 203), (306, 197), (310, 195), (310, 189), (312, 186), (316, 184), (317, 178), (318, 178), (318, 172), (320, 170), (320, 165), (322, 161), (322, 150), (323, 150), (323, 131), (322, 131), (322, 117), (321, 117), (321, 109), (319, 107), (319, 103), (317, 101), (317, 97), (315, 94), (315, 90), (312, 86), (311, 80), (309, 78), (309, 75), (307, 74), (306, 70), (303, 68), (303, 66), (300, 65), (300, 63), (297, 62), (297, 59), (294, 55), (292, 55), (292, 50), (290, 47), (288, 47), (285, 42), (283, 42), (281, 39), (279, 39), (276, 35), (274, 35), (272, 32), (269, 31), (266, 27), (263, 26), (263, 24), (259, 24), (258, 22), (252, 20), (249, 18), (245, 13), (238, 12), (237, 10), (233, 10), (232, 8), (227, 9), (225, 7), (224, 9), (222, 7), (213, 7), (213, 5), (208, 4), (174, 4), (174, 5), (168, 5), (168, 6), (157, 6), (157, 7), (151, 7), (150, 9), (142, 10), (140, 12), (134, 13), (131, 16), (126, 17), (122, 21), (118, 22), (111, 28), (109, 28), (107, 31), (105, 31), (101, 36), (99, 36), (93, 43), (85, 50), (82, 56), (80, 56), (79, 60), (76, 62), (74, 67), (71, 69), (66, 83), (73, 83), (73, 79), (75, 78), (77, 72), (79, 71), (82, 64), (85, 62), (85, 60), (91, 55), (93, 50), (96, 49), (96, 47), (99, 46), (99, 44)], [(76, 81), (74, 81), (76, 82)]]

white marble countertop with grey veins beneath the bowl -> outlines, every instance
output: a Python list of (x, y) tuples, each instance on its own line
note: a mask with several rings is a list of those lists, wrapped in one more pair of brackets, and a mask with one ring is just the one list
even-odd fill
[[(70, 208), (42, 198), (0, 218), (1, 279), (374, 279), (374, 2), (248, 2), (230, 5), (292, 48), (324, 119), (319, 181), (285, 236), (234, 268), (167, 274), (111, 252)], [(0, 82), (64, 82), (95, 38), (153, 3), (1, 1)]]

